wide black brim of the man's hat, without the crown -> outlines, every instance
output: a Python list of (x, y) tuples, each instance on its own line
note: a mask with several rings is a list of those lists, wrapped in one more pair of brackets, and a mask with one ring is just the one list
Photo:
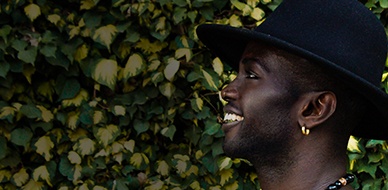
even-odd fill
[(250, 41), (261, 41), (314, 61), (370, 102), (370, 107), (352, 135), (369, 139), (388, 139), (388, 95), (358, 75), (310, 51), (258, 31), (204, 24), (198, 26), (197, 35), (216, 56), (235, 70), (238, 69), (241, 56)]

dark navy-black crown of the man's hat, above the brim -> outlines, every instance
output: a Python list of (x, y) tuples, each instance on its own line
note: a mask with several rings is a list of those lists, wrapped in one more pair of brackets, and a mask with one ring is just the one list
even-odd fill
[(284, 0), (255, 31), (287, 41), (380, 85), (386, 34), (376, 16), (356, 0)]

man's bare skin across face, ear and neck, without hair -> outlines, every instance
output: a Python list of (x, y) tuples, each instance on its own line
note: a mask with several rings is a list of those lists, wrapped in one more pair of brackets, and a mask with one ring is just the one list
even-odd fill
[[(346, 174), (348, 160), (344, 139), (349, 136), (333, 139), (329, 130), (336, 95), (293, 93), (293, 84), (284, 77), (284, 72), (290, 72), (284, 64), (287, 57), (274, 53), (272, 47), (247, 45), (237, 78), (221, 92), (228, 102), (225, 113), (243, 117), (223, 124), (225, 153), (248, 159), (264, 190), (326, 189)], [(310, 134), (303, 135), (301, 126)], [(343, 151), (333, 151), (333, 141)]]

